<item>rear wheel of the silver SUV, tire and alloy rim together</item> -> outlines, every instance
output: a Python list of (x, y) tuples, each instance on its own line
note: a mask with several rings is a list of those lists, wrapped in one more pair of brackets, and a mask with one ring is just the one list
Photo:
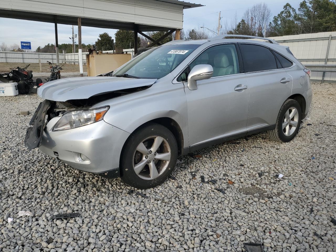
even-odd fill
[(278, 142), (289, 142), (299, 131), (301, 118), (300, 104), (293, 99), (286, 100), (279, 111), (276, 127), (269, 131), (269, 136)]

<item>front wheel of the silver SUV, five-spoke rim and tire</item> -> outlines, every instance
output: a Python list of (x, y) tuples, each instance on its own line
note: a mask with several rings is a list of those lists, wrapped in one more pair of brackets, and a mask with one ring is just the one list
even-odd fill
[(169, 129), (157, 123), (146, 125), (125, 143), (121, 178), (138, 189), (157, 186), (172, 173), (177, 155), (177, 142)]

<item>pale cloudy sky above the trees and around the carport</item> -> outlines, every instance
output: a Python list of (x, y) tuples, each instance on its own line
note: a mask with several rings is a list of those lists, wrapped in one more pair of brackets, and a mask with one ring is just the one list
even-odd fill
[[(188, 0), (185, 0), (188, 2)], [(289, 2), (294, 8), (298, 8), (302, 0), (266, 0), (264, 1), (271, 10), (272, 17), (277, 15), (283, 6)], [(183, 15), (183, 29), (188, 30), (198, 26), (204, 26), (211, 30), (215, 30), (218, 24), (218, 12), (221, 11), (222, 25), (227, 21), (231, 23), (237, 13), (238, 19), (241, 19), (244, 11), (253, 4), (263, 1), (258, 0), (191, 0), (191, 2), (203, 4), (203, 7), (185, 9)], [(271, 18), (272, 18), (271, 17)], [(70, 43), (72, 30), (69, 25), (58, 25), (58, 43)], [(223, 27), (224, 29), (224, 27)], [(44, 46), (48, 43), (55, 43), (54, 24), (35, 22), (28, 20), (19, 20), (11, 18), (0, 18), (0, 44), (5, 42), (8, 45), (20, 44), (20, 41), (30, 41), (32, 49), (35, 50), (38, 46)], [(102, 29), (93, 27), (82, 27), (82, 43), (94, 44), (99, 34), (107, 32), (114, 38), (116, 30)], [(77, 34), (77, 26), (75, 27)]]

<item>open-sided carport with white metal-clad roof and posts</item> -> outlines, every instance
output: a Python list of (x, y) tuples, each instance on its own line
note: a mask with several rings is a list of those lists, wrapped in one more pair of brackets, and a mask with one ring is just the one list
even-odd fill
[[(57, 24), (78, 25), (78, 53), (82, 51), (81, 26), (134, 31), (153, 41), (152, 46), (182, 29), (183, 9), (200, 6), (178, 0), (0, 0), (0, 17), (54, 23), (59, 62)], [(166, 30), (169, 32), (156, 41), (143, 33)], [(134, 36), (135, 52), (137, 39)]]

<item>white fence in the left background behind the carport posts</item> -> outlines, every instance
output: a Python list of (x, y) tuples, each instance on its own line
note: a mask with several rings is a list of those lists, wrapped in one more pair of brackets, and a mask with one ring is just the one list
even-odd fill
[[(113, 51), (104, 51), (104, 53), (112, 53)], [(124, 49), (124, 52), (134, 55), (134, 49)], [(86, 64), (86, 54), (83, 52), (83, 62)], [(0, 52), (0, 62), (3, 63), (56, 63), (56, 53), (40, 53), (40, 52)], [(78, 53), (59, 53), (60, 63), (72, 63), (78, 65)]]

